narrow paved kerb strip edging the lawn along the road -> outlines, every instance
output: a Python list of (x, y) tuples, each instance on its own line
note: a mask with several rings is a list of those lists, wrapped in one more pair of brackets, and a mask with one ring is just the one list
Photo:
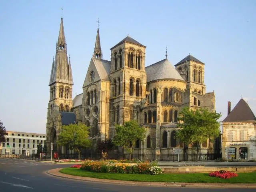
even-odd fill
[(173, 188), (256, 188), (256, 184), (224, 184), (224, 183), (164, 183), (164, 182), (135, 182), (135, 181), (120, 181), (120, 180), (106, 180), (90, 177), (73, 176), (60, 173), (58, 169), (47, 171), (52, 176), (61, 178), (68, 178), (81, 181), (100, 182), (118, 185), (136, 185), (136, 186), (154, 186), (154, 187), (173, 187)]

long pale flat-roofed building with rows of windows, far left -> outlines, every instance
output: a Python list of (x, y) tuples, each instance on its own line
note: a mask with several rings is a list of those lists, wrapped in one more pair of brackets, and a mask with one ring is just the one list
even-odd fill
[(37, 145), (44, 146), (46, 134), (7, 131), (6, 142), (0, 145), (0, 154), (36, 154)]

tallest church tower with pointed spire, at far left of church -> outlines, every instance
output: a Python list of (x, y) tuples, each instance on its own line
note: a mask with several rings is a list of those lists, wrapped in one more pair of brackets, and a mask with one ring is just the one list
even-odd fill
[[(70, 58), (67, 56), (67, 46), (64, 35), (63, 18), (60, 21), (60, 32), (56, 44), (55, 59), (52, 62), (50, 75), (50, 100), (48, 103), (46, 142), (50, 149), (50, 141), (56, 145), (56, 137), (60, 131), (60, 126), (56, 123), (58, 112), (70, 112), (72, 103), (72, 70)], [(55, 114), (54, 114), (55, 113)]]

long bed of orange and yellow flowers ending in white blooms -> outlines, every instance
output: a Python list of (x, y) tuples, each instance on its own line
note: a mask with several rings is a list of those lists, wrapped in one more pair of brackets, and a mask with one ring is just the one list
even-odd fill
[(131, 162), (127, 160), (85, 160), (81, 165), (82, 170), (100, 173), (130, 173), (130, 174), (160, 174), (162, 169), (152, 166), (149, 162)]

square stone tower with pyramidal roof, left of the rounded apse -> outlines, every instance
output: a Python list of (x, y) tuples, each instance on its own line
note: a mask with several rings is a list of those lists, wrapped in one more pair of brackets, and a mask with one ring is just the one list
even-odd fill
[(130, 36), (110, 49), (110, 126), (128, 120), (141, 123), (140, 110), (146, 97), (145, 49)]

